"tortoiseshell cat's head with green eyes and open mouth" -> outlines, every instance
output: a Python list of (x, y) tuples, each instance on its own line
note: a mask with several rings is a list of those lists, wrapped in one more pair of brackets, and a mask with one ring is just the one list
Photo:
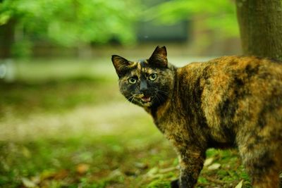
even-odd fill
[(157, 46), (152, 56), (142, 61), (128, 61), (116, 55), (111, 61), (119, 77), (121, 93), (133, 104), (159, 106), (171, 95), (174, 73), (168, 65), (165, 46)]

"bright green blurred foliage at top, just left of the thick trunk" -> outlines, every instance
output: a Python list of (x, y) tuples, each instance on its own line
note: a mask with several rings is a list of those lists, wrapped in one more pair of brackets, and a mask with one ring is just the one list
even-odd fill
[(220, 30), (226, 37), (238, 36), (235, 4), (228, 0), (176, 0), (167, 1), (149, 8), (145, 12), (146, 20), (155, 23), (173, 24), (180, 20), (202, 20), (203, 27)]

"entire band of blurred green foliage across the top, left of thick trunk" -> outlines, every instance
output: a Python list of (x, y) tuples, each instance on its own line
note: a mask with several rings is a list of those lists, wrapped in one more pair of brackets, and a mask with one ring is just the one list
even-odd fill
[[(237, 37), (235, 5), (228, 0), (159, 1), (155, 6), (141, 0), (2, 0), (0, 26), (16, 23), (14, 57), (31, 54), (33, 44), (57, 44), (66, 47), (91, 43), (121, 44), (135, 42), (135, 26), (140, 21), (171, 25), (194, 20), (201, 28)], [(152, 3), (152, 1), (149, 4)], [(204, 36), (202, 36), (204, 39)]]

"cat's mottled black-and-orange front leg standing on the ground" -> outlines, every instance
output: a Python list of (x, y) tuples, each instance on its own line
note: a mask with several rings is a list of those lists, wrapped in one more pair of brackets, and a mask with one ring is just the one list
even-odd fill
[(179, 154), (180, 177), (178, 182), (172, 182), (171, 187), (192, 188), (197, 183), (197, 178), (204, 164), (204, 152), (186, 151)]

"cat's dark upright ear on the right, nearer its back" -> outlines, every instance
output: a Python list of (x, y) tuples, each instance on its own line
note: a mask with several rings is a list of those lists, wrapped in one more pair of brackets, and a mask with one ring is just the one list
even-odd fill
[(149, 64), (155, 65), (161, 68), (167, 68), (168, 61), (166, 58), (166, 46), (157, 46), (152, 56), (149, 58)]

